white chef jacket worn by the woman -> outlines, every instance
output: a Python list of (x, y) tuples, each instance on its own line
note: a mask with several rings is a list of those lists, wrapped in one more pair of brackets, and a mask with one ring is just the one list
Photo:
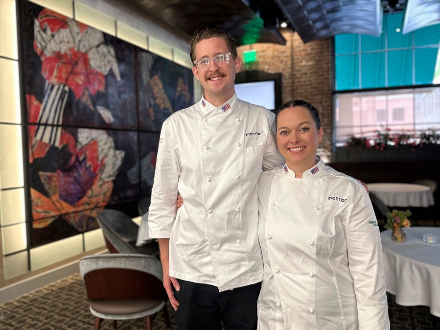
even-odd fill
[(258, 330), (390, 329), (370, 198), (317, 161), (302, 179), (287, 165), (260, 176)]

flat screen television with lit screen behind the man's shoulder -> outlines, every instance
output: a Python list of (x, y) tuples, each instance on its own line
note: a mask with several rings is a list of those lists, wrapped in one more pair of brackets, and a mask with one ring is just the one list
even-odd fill
[(275, 112), (281, 106), (281, 73), (239, 72), (235, 76), (235, 93), (243, 101)]

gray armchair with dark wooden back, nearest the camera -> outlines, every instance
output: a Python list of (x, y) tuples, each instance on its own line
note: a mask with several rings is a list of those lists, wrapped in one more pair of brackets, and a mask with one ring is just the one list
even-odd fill
[(146, 329), (152, 330), (152, 315), (162, 310), (167, 329), (170, 322), (162, 284), (162, 264), (153, 256), (106, 254), (87, 256), (79, 261), (86, 285), (90, 311), (96, 316), (94, 330), (102, 319), (116, 320), (145, 317)]

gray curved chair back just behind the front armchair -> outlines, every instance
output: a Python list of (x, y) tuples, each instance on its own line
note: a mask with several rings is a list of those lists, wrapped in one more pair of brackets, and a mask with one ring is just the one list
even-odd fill
[(106, 209), (98, 213), (97, 220), (111, 253), (139, 253), (133, 246), (138, 238), (139, 226), (128, 215)]

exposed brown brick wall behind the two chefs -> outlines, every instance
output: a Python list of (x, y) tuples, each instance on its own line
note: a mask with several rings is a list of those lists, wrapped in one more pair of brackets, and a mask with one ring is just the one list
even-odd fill
[(321, 146), (331, 150), (332, 93), (331, 93), (331, 40), (315, 40), (304, 44), (296, 32), (282, 33), (287, 43), (252, 44), (238, 47), (238, 54), (255, 49), (257, 62), (244, 70), (282, 73), (282, 102), (299, 98), (310, 102), (320, 112), (324, 127)]

